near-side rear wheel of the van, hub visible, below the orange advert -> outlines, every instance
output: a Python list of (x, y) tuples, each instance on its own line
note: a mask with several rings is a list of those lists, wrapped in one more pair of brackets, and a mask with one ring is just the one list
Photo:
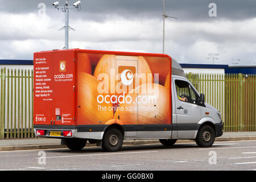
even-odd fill
[(123, 135), (118, 129), (112, 128), (105, 131), (102, 139), (102, 148), (104, 151), (115, 152), (118, 151), (123, 144)]

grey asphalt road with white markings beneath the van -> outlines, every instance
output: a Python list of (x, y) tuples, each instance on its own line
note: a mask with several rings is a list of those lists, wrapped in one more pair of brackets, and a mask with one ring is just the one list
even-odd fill
[(85, 147), (74, 152), (51, 150), (0, 151), (0, 170), (8, 171), (123, 171), (123, 170), (253, 170), (256, 171), (256, 140), (214, 142), (210, 148), (196, 143), (123, 146), (118, 152)]

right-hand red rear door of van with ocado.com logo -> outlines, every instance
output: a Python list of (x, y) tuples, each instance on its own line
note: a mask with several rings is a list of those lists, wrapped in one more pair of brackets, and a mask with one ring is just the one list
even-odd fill
[(76, 125), (76, 51), (53, 51), (52, 125)]

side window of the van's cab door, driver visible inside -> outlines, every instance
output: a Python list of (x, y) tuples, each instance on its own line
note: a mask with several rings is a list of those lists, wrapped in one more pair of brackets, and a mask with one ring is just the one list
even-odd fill
[(175, 88), (180, 101), (197, 104), (199, 96), (187, 81), (175, 80)]

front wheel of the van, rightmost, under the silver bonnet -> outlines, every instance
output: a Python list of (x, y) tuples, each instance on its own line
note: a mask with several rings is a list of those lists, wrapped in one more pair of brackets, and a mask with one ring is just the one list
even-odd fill
[(199, 147), (210, 147), (214, 143), (215, 132), (209, 125), (201, 127), (196, 137), (196, 144)]

